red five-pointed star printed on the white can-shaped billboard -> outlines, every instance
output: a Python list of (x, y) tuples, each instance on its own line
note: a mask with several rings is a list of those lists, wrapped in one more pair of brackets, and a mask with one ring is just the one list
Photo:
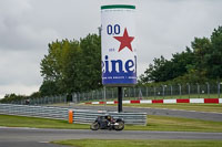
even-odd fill
[(120, 44), (120, 49), (118, 52), (120, 52), (121, 50), (123, 50), (125, 46), (128, 49), (130, 49), (130, 51), (132, 52), (132, 46), (131, 46), (131, 42), (134, 40), (134, 36), (129, 36), (128, 35), (128, 30), (127, 28), (124, 29), (124, 33), (123, 36), (113, 36), (115, 40), (118, 40), (119, 42), (121, 42)]

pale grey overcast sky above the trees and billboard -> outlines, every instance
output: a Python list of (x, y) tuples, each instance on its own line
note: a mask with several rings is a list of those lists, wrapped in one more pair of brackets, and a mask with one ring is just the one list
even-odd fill
[(137, 6), (139, 75), (222, 25), (222, 0), (0, 0), (0, 98), (37, 92), (48, 43), (98, 33), (101, 4), (120, 3)]

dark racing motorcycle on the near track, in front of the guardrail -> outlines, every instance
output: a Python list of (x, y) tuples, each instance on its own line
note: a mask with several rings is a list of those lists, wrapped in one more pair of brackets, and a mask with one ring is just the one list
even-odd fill
[(124, 120), (122, 118), (114, 119), (110, 115), (98, 116), (98, 118), (90, 125), (90, 129), (109, 129), (122, 130), (124, 128)]

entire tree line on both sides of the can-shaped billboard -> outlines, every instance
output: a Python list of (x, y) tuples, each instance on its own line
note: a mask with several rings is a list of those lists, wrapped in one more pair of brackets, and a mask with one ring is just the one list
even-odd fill
[[(81, 93), (102, 87), (101, 36), (53, 41), (40, 62), (43, 82), (30, 96), (7, 94), (1, 102), (28, 97)], [(155, 57), (139, 76), (138, 85), (169, 83), (204, 83), (222, 78), (222, 27), (210, 38), (194, 38), (191, 48), (172, 54), (172, 59)]]

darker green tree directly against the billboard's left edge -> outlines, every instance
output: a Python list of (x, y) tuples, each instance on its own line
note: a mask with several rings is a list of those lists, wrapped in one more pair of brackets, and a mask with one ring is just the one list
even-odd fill
[(82, 49), (82, 87), (83, 91), (97, 90), (102, 86), (101, 81), (101, 39), (93, 34), (81, 40)]

